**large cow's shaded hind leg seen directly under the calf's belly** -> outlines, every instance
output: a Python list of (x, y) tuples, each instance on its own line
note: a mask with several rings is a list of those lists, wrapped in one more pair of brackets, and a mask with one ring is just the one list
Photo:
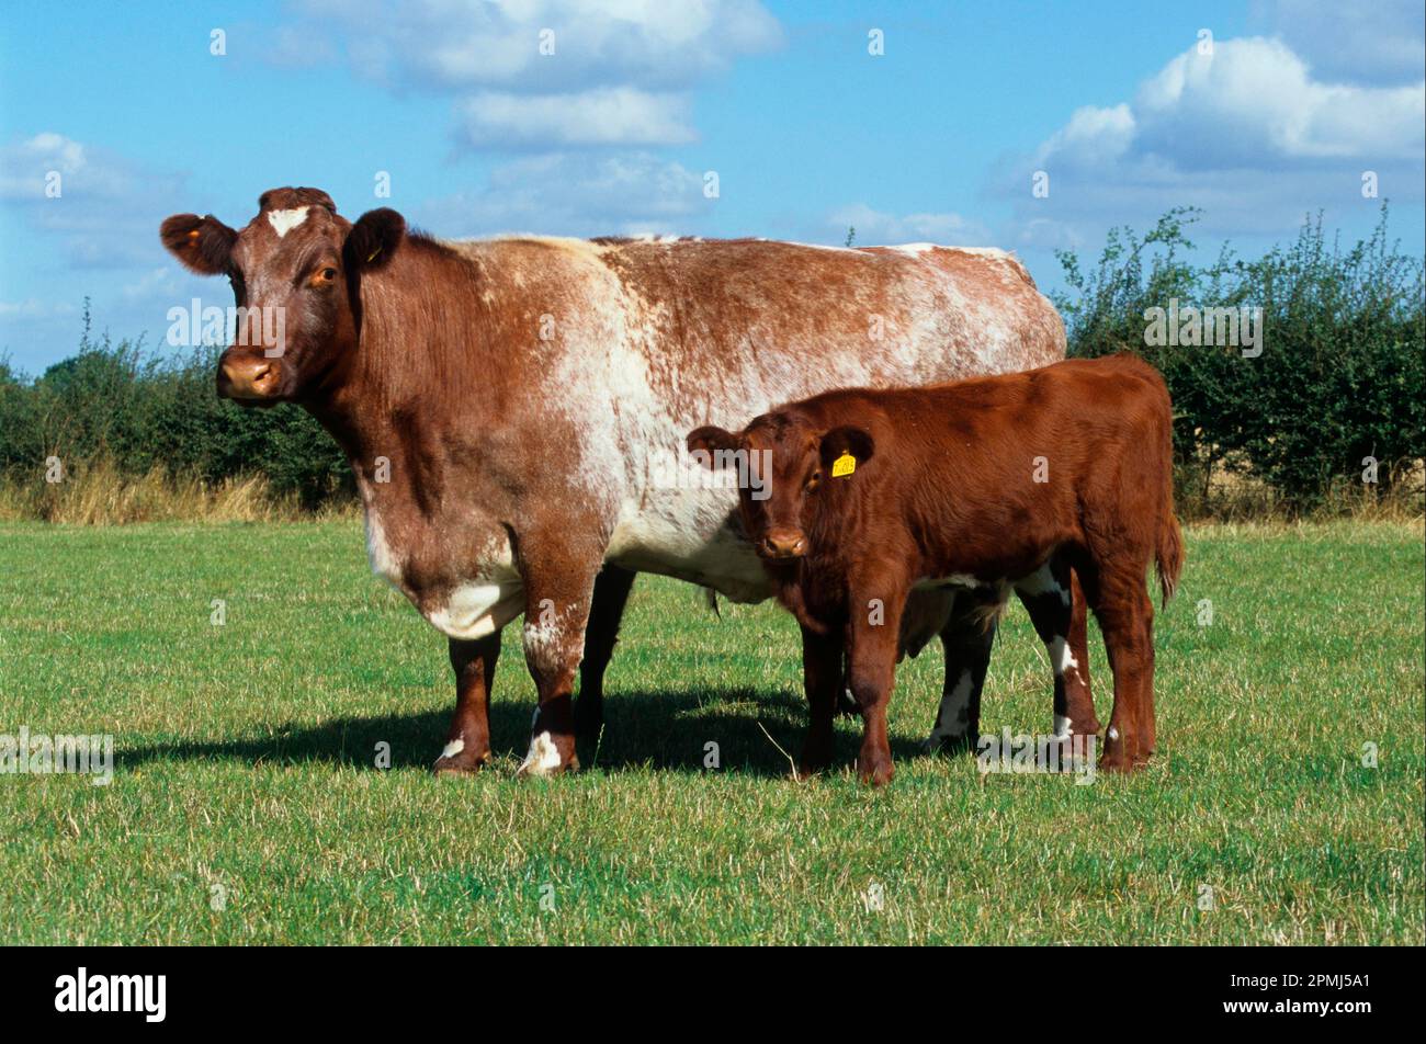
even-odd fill
[(995, 588), (955, 592), (951, 615), (941, 629), (945, 680), (925, 753), (974, 750), (980, 739), (980, 702), (995, 645), (1001, 595)]

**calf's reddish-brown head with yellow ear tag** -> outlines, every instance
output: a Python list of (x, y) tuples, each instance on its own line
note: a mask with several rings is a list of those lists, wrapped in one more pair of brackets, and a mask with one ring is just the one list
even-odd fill
[(687, 445), (709, 468), (739, 469), (743, 529), (757, 553), (771, 561), (809, 552), (819, 498), (829, 483), (851, 479), (873, 454), (871, 435), (861, 428), (829, 429), (794, 409), (764, 414), (740, 432), (697, 428)]

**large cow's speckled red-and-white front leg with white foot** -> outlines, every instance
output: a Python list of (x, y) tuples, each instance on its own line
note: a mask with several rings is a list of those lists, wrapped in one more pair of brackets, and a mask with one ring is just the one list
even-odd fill
[(585, 650), (585, 626), (593, 596), (597, 561), (589, 569), (552, 575), (526, 570), (525, 663), (539, 692), (530, 722), (530, 747), (520, 776), (553, 776), (578, 769), (575, 754), (573, 692)]

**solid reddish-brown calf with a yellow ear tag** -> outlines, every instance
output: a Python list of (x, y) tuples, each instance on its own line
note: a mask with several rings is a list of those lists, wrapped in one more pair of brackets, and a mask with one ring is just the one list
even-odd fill
[(1077, 657), (1071, 569), (1114, 672), (1099, 767), (1148, 762), (1154, 603), (1144, 579), (1152, 561), (1166, 603), (1184, 541), (1172, 408), (1147, 362), (1115, 355), (930, 388), (830, 391), (736, 434), (704, 425), (687, 445), (707, 468), (737, 462), (753, 476), (740, 486), (743, 526), (803, 630), (803, 772), (830, 759), (846, 656), (866, 723), (857, 774), (891, 779), (886, 712), (900, 615), (917, 589), (990, 589), (1002, 605), (1014, 588), (1050, 649), (1064, 706)]

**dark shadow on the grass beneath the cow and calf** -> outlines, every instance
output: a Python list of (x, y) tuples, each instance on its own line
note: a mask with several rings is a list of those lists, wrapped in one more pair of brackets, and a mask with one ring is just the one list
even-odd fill
[[(529, 722), (530, 706), (496, 700), (491, 707), (491, 747), (496, 757), (525, 756)], [(838, 722), (836, 767), (856, 760), (861, 730), (857, 719), (843, 717)], [(441, 753), (449, 723), (448, 709), (378, 717), (335, 717), (321, 725), (287, 727), (264, 736), (120, 749), (116, 752), (116, 762), (121, 767), (148, 762), (237, 760), (254, 766), (328, 763), (371, 769), (375, 766), (376, 744), (389, 743), (392, 769), (428, 767)], [(806, 727), (806, 702), (787, 690), (609, 693), (605, 697), (605, 732), (597, 750), (593, 743), (582, 743), (579, 759), (586, 769), (597, 772), (647, 766), (702, 773), (709, 754), (707, 744), (717, 743), (719, 762), (724, 770), (786, 776), (790, 764), (783, 752), (797, 756)], [(891, 753), (897, 760), (913, 757), (917, 752), (915, 742), (891, 739)]]

